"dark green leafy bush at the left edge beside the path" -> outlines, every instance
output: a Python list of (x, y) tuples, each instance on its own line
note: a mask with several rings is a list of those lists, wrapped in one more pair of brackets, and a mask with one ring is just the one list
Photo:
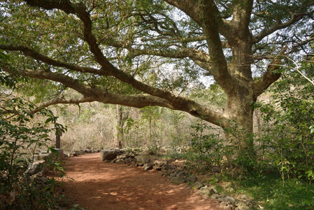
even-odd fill
[[(57, 206), (55, 179), (37, 182), (29, 174), (29, 165), (38, 148), (48, 148), (49, 134), (64, 127), (56, 122), (51, 111), (42, 109), (34, 115), (31, 113), (34, 106), (22, 99), (1, 98), (0, 209), (53, 209)], [(62, 175), (60, 162), (50, 164)]]

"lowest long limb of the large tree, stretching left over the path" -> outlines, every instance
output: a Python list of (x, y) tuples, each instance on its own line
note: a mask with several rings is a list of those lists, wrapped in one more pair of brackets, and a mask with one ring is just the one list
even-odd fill
[[(6, 66), (1, 66), (1, 69), (10, 73), (10, 68), (7, 68)], [(222, 115), (222, 113), (217, 113), (215, 111), (206, 109), (206, 107), (202, 106), (201, 104), (198, 104), (184, 97), (175, 97), (173, 95), (170, 100), (167, 100), (162, 97), (152, 96), (150, 94), (115, 94), (98, 87), (91, 88), (87, 85), (80, 83), (78, 80), (71, 78), (70, 76), (63, 75), (62, 73), (55, 73), (40, 69), (24, 69), (22, 71), (19, 71), (19, 73), (21, 76), (54, 80), (56, 82), (62, 83), (66, 85), (66, 87), (70, 87), (71, 89), (83, 94), (84, 97), (80, 99), (81, 102), (97, 101), (103, 102), (105, 104), (120, 104), (124, 106), (133, 106), (136, 108), (143, 108), (145, 106), (163, 106), (173, 110), (185, 111), (193, 116), (204, 117), (208, 122), (215, 125), (220, 125), (221, 121), (227, 119), (225, 116)], [(78, 101), (73, 101), (73, 99), (57, 98), (41, 104), (41, 107), (47, 107), (52, 104), (66, 104), (67, 102), (72, 103)]]

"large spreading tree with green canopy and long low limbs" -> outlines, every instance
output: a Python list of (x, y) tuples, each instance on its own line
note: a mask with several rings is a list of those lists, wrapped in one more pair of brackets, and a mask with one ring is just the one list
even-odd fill
[[(306, 46), (314, 2), (8, 0), (1, 10), (0, 49), (15, 59), (1, 69), (81, 94), (41, 106), (164, 106), (252, 132), (252, 102), (280, 78), (280, 55)], [(223, 112), (183, 97), (204, 74), (227, 95)]]

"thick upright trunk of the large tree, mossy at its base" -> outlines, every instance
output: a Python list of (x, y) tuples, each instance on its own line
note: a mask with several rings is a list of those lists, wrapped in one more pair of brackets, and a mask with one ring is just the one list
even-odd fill
[(254, 155), (253, 103), (256, 101), (251, 71), (252, 45), (250, 38), (238, 41), (228, 71), (234, 77), (233, 87), (226, 91), (227, 104), (224, 114), (230, 119), (224, 122), (227, 141), (236, 148), (236, 157)]

